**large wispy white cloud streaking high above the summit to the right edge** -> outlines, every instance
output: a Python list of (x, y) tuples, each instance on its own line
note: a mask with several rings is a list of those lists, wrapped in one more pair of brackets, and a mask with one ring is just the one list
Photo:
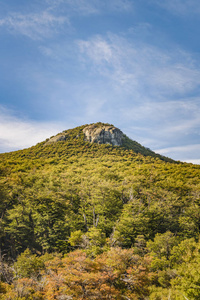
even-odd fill
[(154, 95), (183, 95), (200, 87), (200, 69), (180, 49), (165, 51), (116, 35), (95, 36), (78, 41), (78, 45), (83, 61), (93, 72), (131, 93), (145, 89)]

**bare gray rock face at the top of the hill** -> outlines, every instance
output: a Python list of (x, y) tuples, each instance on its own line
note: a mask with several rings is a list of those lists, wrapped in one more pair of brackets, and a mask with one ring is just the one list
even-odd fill
[(112, 125), (89, 125), (83, 129), (83, 133), (90, 143), (122, 145), (123, 132)]

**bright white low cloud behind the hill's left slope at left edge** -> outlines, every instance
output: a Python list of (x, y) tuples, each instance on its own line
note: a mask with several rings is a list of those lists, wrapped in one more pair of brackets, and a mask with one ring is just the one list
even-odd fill
[(0, 152), (27, 148), (62, 131), (61, 124), (21, 120), (0, 107)]

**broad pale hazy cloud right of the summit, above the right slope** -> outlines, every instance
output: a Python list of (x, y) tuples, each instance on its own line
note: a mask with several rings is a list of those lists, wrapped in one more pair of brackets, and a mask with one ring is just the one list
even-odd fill
[(128, 129), (130, 136), (151, 149), (167, 148), (169, 143), (175, 146), (199, 141), (199, 98), (189, 99), (188, 103), (146, 101), (123, 108), (121, 115), (133, 123)]

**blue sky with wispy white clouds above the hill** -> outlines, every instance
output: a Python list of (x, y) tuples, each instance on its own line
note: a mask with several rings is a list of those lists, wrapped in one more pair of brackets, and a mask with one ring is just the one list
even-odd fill
[(0, 0), (0, 152), (105, 122), (200, 164), (199, 0)]

